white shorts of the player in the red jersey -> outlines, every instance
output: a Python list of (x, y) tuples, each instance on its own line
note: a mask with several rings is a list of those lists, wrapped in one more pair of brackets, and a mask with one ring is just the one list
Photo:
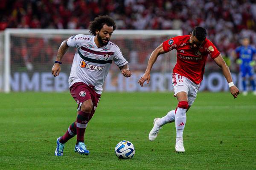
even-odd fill
[(172, 73), (172, 85), (175, 96), (177, 93), (184, 91), (188, 94), (189, 106), (195, 102), (200, 84), (197, 85), (190, 79), (180, 76), (180, 74)]

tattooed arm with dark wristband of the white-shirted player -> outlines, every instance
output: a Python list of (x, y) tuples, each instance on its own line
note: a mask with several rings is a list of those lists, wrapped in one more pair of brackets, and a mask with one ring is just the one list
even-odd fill
[(54, 77), (56, 77), (56, 76), (58, 76), (60, 74), (60, 71), (61, 71), (61, 59), (64, 56), (64, 54), (66, 53), (67, 48), (68, 48), (67, 40), (64, 40), (61, 43), (60, 48), (58, 49), (58, 53), (57, 53), (57, 56), (56, 56), (56, 59), (55, 59), (55, 63), (52, 66), (52, 75)]

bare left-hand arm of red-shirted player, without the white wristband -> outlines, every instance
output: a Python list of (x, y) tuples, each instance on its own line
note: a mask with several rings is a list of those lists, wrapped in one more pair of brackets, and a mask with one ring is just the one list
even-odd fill
[(148, 60), (148, 66), (146, 68), (146, 71), (143, 74), (143, 76), (140, 77), (140, 79), (138, 81), (138, 83), (140, 83), (141, 87), (143, 87), (143, 84), (145, 81), (147, 81), (147, 84), (149, 83), (151, 68), (153, 67), (154, 62), (156, 62), (157, 57), (160, 54), (164, 54), (164, 53), (166, 53), (166, 52), (163, 50), (163, 43), (161, 45), (159, 45), (156, 49), (154, 49), (154, 51), (151, 53), (150, 58)]

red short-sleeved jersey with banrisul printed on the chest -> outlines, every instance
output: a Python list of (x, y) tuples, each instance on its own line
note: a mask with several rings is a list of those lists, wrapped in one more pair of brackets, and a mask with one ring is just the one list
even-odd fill
[(187, 77), (195, 84), (203, 80), (204, 66), (209, 55), (215, 59), (220, 55), (215, 45), (208, 39), (204, 41), (200, 48), (192, 49), (189, 44), (189, 35), (173, 37), (163, 42), (163, 50), (168, 52), (177, 50), (177, 63), (173, 72)]

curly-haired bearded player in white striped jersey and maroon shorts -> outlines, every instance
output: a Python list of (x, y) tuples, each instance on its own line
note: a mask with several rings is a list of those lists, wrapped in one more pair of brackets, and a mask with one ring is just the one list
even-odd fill
[(84, 144), (84, 132), (98, 105), (111, 63), (114, 61), (125, 77), (131, 77), (128, 61), (122, 56), (118, 46), (110, 42), (116, 29), (114, 20), (109, 16), (99, 16), (90, 23), (89, 28), (92, 35), (78, 34), (62, 42), (52, 67), (53, 76), (58, 76), (61, 59), (67, 48), (77, 48), (69, 84), (70, 93), (78, 104), (78, 114), (66, 133), (57, 139), (55, 156), (63, 156), (64, 144), (73, 136), (77, 139), (75, 152), (82, 155), (90, 153)]

